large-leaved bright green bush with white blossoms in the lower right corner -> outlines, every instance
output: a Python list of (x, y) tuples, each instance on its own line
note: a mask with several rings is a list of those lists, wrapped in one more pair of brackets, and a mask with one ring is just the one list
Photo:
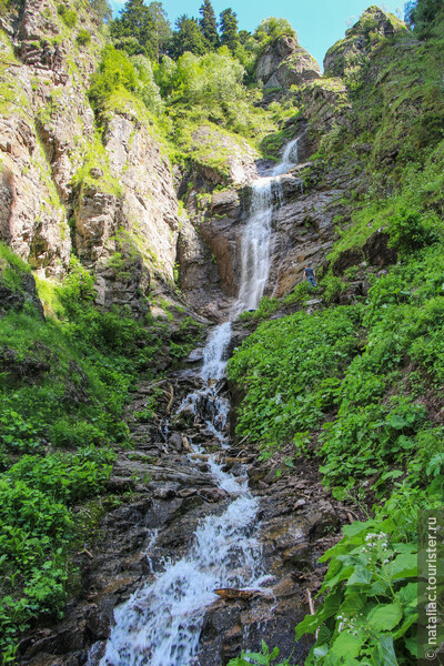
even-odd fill
[(373, 519), (343, 527), (315, 615), (296, 627), (296, 640), (315, 634), (305, 664), (411, 664), (416, 656), (417, 512), (425, 498), (401, 487)]

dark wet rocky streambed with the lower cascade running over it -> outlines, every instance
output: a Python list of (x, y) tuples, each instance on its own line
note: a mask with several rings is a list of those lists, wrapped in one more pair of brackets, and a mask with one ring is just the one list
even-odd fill
[(279, 461), (230, 438), (229, 397), (199, 362), (140, 385), (128, 410), (134, 447), (77, 555), (77, 594), (62, 623), (22, 642), (20, 664), (221, 666), (262, 639), (302, 663), (310, 645), (294, 644), (294, 626), (347, 514), (312, 462), (279, 477)]

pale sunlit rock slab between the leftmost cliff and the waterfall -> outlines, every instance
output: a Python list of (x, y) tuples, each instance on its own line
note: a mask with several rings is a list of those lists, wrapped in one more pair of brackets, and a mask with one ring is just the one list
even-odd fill
[(108, 178), (120, 189), (103, 192), (94, 180), (80, 188), (77, 251), (94, 266), (100, 305), (129, 304), (138, 311), (152, 281), (173, 281), (178, 199), (159, 142), (135, 118), (111, 117), (103, 145)]

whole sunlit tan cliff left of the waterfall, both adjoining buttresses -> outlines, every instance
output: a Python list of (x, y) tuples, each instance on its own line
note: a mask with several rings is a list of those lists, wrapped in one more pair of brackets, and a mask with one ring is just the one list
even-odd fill
[(0, 239), (44, 276), (63, 276), (77, 252), (100, 304), (138, 311), (150, 283), (173, 281), (169, 160), (131, 109), (110, 112), (99, 138), (87, 91), (103, 39), (87, 6), (68, 27), (59, 4), (26, 0), (2, 26)]

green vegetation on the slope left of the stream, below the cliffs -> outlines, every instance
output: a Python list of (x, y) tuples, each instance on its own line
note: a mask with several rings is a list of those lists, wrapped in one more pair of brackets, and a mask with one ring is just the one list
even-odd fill
[(172, 339), (150, 315), (138, 322), (125, 310), (99, 311), (94, 280), (75, 260), (63, 284), (39, 281), (52, 313), (43, 320), (24, 291), (29, 271), (0, 244), (0, 284), (14, 294), (0, 317), (3, 664), (39, 617), (61, 617), (89, 503), (129, 442), (123, 407), (132, 387), (158, 376), (160, 359), (188, 354), (199, 334), (190, 319)]

